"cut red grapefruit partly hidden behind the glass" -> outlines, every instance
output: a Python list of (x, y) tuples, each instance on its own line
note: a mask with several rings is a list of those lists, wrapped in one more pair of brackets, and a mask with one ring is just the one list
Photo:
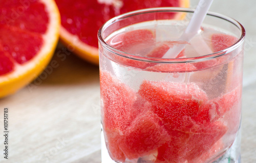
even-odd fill
[[(71, 51), (98, 64), (97, 32), (117, 15), (152, 7), (188, 7), (188, 0), (55, 0), (61, 15), (60, 39)], [(174, 15), (175, 16), (175, 15)]]

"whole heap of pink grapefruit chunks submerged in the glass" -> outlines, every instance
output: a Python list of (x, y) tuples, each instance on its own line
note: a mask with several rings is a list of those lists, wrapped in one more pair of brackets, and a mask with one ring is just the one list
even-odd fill
[(106, 71), (100, 87), (106, 146), (120, 162), (154, 155), (156, 162), (196, 163), (227, 132), (219, 119), (241, 94), (209, 100), (195, 83), (148, 80), (136, 94)]

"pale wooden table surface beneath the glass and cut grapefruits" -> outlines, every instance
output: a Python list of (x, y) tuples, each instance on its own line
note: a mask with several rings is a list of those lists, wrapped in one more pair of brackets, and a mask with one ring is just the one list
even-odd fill
[[(216, 0), (210, 11), (246, 29), (242, 162), (256, 162), (255, 0)], [(191, 7), (197, 1), (191, 0)], [(65, 54), (59, 45), (56, 52)], [(16, 94), (0, 99), (0, 162), (101, 162), (99, 70), (74, 55), (59, 58)], [(9, 108), (9, 155), (4, 158), (4, 107)]]

